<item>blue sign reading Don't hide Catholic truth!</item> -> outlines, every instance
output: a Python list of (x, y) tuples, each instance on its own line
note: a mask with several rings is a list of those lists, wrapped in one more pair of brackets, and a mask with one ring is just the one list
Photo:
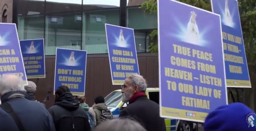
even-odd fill
[(85, 95), (86, 50), (56, 48), (54, 93), (61, 85), (72, 95)]

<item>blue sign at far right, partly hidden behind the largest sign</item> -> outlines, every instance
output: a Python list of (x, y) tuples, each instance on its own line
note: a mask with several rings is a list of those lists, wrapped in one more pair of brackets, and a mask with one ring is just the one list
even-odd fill
[(237, 0), (211, 0), (211, 6), (221, 16), (227, 87), (252, 87)]

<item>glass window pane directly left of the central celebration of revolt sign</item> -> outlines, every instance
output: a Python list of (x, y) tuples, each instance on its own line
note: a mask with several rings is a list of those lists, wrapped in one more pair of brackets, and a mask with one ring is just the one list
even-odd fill
[(88, 54), (108, 53), (105, 23), (119, 25), (119, 9), (83, 12), (83, 50)]

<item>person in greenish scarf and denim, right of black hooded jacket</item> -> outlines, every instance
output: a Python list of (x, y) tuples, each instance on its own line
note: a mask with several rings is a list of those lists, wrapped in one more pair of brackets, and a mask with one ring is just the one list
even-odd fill
[(93, 108), (89, 107), (86, 104), (85, 102), (86, 99), (84, 96), (77, 96), (75, 99), (80, 101), (80, 107), (86, 111), (91, 129), (94, 129), (94, 127), (96, 126), (96, 118), (95, 118), (95, 112), (93, 111)]

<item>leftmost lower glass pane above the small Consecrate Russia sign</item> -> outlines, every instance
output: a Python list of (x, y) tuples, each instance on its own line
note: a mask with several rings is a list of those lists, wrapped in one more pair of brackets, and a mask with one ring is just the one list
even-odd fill
[(18, 17), (19, 39), (43, 39), (44, 18), (44, 15)]

